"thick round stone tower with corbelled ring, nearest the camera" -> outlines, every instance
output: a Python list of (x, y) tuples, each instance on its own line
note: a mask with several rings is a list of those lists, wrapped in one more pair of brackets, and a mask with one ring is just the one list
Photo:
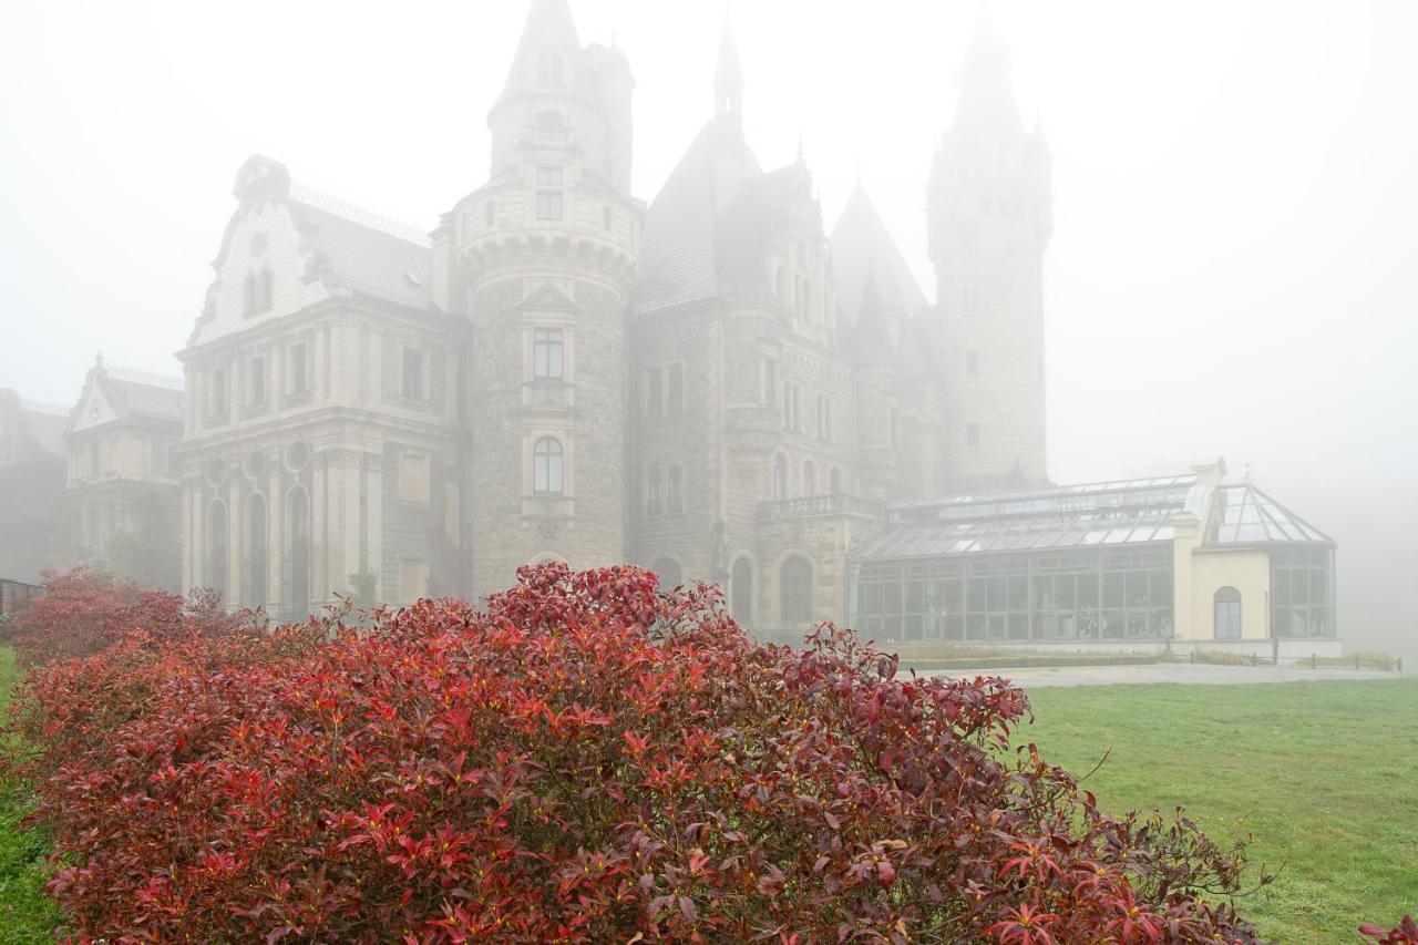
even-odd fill
[(618, 50), (581, 47), (566, 0), (533, 0), (488, 116), (491, 179), (434, 234), (435, 295), (474, 329), (479, 596), (527, 562), (625, 558), (625, 315), (642, 226), (632, 87)]

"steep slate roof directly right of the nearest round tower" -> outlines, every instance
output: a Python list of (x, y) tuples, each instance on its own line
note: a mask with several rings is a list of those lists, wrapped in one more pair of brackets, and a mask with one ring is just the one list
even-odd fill
[(720, 272), (740, 268), (730, 251), (757, 243), (756, 221), (735, 204), (761, 173), (737, 121), (719, 116), (699, 131), (645, 214), (637, 311), (719, 295)]

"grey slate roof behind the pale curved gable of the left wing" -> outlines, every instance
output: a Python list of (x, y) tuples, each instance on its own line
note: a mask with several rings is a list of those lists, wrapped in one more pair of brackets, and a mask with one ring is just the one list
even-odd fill
[(296, 223), (312, 231), (316, 265), (328, 285), (410, 308), (432, 308), (432, 251), (427, 243), (312, 200), (292, 196), (289, 206)]

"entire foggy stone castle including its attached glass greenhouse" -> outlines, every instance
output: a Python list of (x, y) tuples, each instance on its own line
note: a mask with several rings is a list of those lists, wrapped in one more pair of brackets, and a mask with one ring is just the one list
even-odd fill
[(934, 305), (859, 186), (828, 236), (801, 155), (763, 170), (729, 31), (648, 206), (632, 87), (566, 0), (533, 0), (488, 180), (431, 234), (248, 159), (184, 397), (96, 366), (74, 501), (129, 463), (182, 522), (169, 583), (282, 616), (631, 560), (719, 583), (766, 636), (1333, 637), (1333, 542), (1222, 464), (1049, 484), (1051, 162), (988, 20), (926, 183)]

